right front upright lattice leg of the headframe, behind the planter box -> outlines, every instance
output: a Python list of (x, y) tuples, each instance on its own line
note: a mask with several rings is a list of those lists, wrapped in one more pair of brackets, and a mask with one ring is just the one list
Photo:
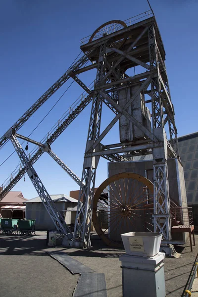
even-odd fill
[[(170, 228), (170, 199), (169, 182), (167, 171), (167, 138), (164, 130), (163, 112), (163, 84), (159, 69), (159, 57), (156, 48), (155, 29), (151, 25), (148, 28), (150, 71), (151, 71), (151, 95), (152, 95), (152, 132), (158, 137), (163, 148), (153, 148), (153, 222), (154, 232), (163, 234), (165, 240), (171, 239)], [(154, 77), (153, 69), (157, 69), (157, 76)], [(167, 113), (170, 112), (167, 110)]]

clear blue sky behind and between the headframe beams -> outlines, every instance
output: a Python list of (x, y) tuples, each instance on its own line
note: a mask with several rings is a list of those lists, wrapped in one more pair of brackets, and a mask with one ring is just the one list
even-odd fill
[[(175, 108), (178, 136), (198, 130), (197, 119), (197, 0), (150, 0), (166, 51), (166, 67)], [(80, 40), (112, 19), (125, 20), (148, 10), (139, 1), (0, 1), (0, 136), (68, 69), (80, 53)], [(89, 84), (96, 70), (81, 76)], [(19, 130), (28, 136), (67, 89), (69, 80)], [(76, 83), (60, 99), (31, 137), (40, 141), (64, 111), (82, 93)], [(51, 146), (53, 151), (79, 176), (82, 174), (89, 105)], [(106, 116), (108, 115), (108, 116)], [(102, 127), (113, 115), (104, 108)], [(103, 141), (118, 141), (118, 127)], [(25, 147), (24, 143), (23, 147)], [(29, 146), (31, 150), (31, 145)], [(0, 163), (13, 151), (11, 143), (0, 150)], [(14, 153), (0, 166), (0, 184), (19, 163)], [(78, 185), (44, 154), (34, 165), (49, 194), (67, 194)], [(100, 159), (96, 186), (107, 177), (107, 162)], [(12, 191), (24, 197), (37, 193), (26, 175)]]

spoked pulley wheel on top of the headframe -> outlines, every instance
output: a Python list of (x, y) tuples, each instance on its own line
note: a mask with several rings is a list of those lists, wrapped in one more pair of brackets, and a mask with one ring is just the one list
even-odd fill
[[(92, 34), (92, 36), (89, 39), (89, 42), (92, 42), (92, 41), (97, 40), (101, 37), (110, 35), (116, 31), (121, 30), (126, 27), (127, 27), (127, 25), (125, 24), (125, 22), (120, 21), (120, 20), (112, 20), (112, 21), (106, 22), (103, 25), (99, 26), (99, 28), (94, 31), (94, 33)], [(112, 41), (112, 43), (109, 44), (109, 47), (111, 47), (111, 48), (115, 47), (118, 49), (125, 43), (126, 40), (127, 40), (127, 38), (122, 38), (119, 41), (115, 41), (115, 42)]]

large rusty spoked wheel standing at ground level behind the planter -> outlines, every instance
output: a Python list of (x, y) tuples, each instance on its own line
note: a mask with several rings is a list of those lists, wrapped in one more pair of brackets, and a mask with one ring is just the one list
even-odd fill
[(105, 244), (120, 247), (122, 233), (153, 231), (152, 209), (153, 184), (136, 173), (119, 173), (96, 191), (92, 221)]

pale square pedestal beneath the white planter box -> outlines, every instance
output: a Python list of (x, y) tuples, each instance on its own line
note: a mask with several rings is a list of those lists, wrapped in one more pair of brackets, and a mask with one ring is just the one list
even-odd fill
[(163, 252), (149, 258), (120, 256), (123, 297), (165, 297), (164, 258)]

